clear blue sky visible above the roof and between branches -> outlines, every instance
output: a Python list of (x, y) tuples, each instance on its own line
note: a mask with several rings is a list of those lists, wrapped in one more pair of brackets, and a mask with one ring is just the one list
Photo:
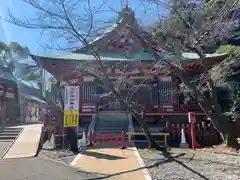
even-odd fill
[[(51, 0), (41, 0), (42, 2), (51, 1)], [(84, 0), (80, 0), (83, 1)], [(90, 0), (92, 6), (102, 5), (104, 0)], [(106, 0), (105, 0), (106, 1)], [(123, 0), (124, 1), (124, 0)], [(166, 9), (163, 7), (157, 7), (156, 5), (149, 4), (147, 1), (150, 0), (128, 0), (129, 7), (132, 8), (136, 13), (136, 18), (139, 19), (140, 24), (151, 24), (158, 19), (159, 15), (165, 15)], [(108, 0), (107, 3), (102, 7), (104, 10), (109, 10), (109, 12), (104, 12), (97, 14), (97, 17), (100, 19), (111, 19), (116, 16), (116, 11), (120, 11), (122, 7), (121, 0)], [(111, 8), (110, 8), (111, 7)], [(34, 17), (36, 16), (37, 11), (31, 6), (22, 2), (21, 0), (6, 0), (1, 1), (0, 6), (0, 16), (6, 17), (8, 10), (10, 10), (15, 16), (23, 18), (25, 17)], [(146, 11), (146, 12), (145, 12)], [(84, 10), (79, 9), (79, 13), (84, 15)], [(15, 25), (6, 23), (0, 20), (0, 41), (8, 43), (10, 41), (18, 42), (22, 45), (29, 47), (32, 53), (42, 53), (49, 52), (51, 50), (44, 48), (43, 46), (46, 42), (51, 42), (51, 45), (56, 46), (67, 46), (67, 43), (59, 40), (52, 41), (49, 34), (42, 34), (40, 30), (31, 30)]]

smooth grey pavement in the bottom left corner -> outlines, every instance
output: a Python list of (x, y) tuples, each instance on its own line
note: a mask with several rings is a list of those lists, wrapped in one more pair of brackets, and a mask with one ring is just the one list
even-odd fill
[(90, 180), (100, 177), (41, 157), (0, 159), (1, 180)]

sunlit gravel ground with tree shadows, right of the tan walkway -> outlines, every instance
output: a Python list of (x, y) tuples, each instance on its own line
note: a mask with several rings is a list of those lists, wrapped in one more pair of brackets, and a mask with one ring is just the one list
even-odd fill
[[(239, 180), (240, 156), (170, 151), (170, 158), (161, 152), (139, 149), (153, 180)], [(175, 157), (175, 158), (172, 158)]]

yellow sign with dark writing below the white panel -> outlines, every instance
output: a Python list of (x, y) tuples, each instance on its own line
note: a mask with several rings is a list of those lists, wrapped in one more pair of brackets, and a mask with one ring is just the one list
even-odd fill
[(64, 127), (76, 127), (79, 121), (78, 110), (64, 110)]

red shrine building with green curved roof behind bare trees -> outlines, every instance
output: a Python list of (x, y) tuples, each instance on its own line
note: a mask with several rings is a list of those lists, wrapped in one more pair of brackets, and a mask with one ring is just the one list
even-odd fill
[[(134, 31), (129, 29), (134, 29)], [(153, 72), (150, 70), (155, 60), (151, 54), (143, 52), (138, 37), (132, 32), (152, 39), (152, 35), (144, 31), (137, 23), (134, 12), (129, 7), (125, 7), (110, 29), (89, 42), (90, 46), (98, 52), (104, 64), (111, 67), (109, 70), (113, 75), (109, 78), (114, 81), (122, 74), (132, 73), (129, 78), (133, 83), (144, 82), (139, 86), (133, 99), (143, 107), (142, 115), (146, 119), (156, 120), (182, 116), (187, 118), (188, 111), (195, 111), (198, 116), (204, 116), (197, 104), (183, 103), (182, 94), (178, 90), (178, 85), (181, 83), (178, 78), (167, 76), (164, 71)], [(170, 62), (179, 62), (172, 53), (163, 50), (159, 50), (158, 53)], [(211, 67), (225, 57), (225, 54), (206, 54), (206, 61)], [(80, 72), (79, 64), (95, 60), (87, 47), (84, 46), (73, 52), (32, 55), (32, 58), (57, 80), (67, 82), (68, 85), (80, 86), (80, 124), (82, 120), (90, 119), (98, 111), (125, 111), (115, 99), (102, 100), (99, 98), (107, 92), (95, 81), (94, 77)], [(181, 61), (183, 66), (189, 68), (193, 73), (201, 72), (200, 60), (196, 54), (182, 53)], [(117, 63), (127, 64), (127, 72), (123, 66), (112, 68)]]

